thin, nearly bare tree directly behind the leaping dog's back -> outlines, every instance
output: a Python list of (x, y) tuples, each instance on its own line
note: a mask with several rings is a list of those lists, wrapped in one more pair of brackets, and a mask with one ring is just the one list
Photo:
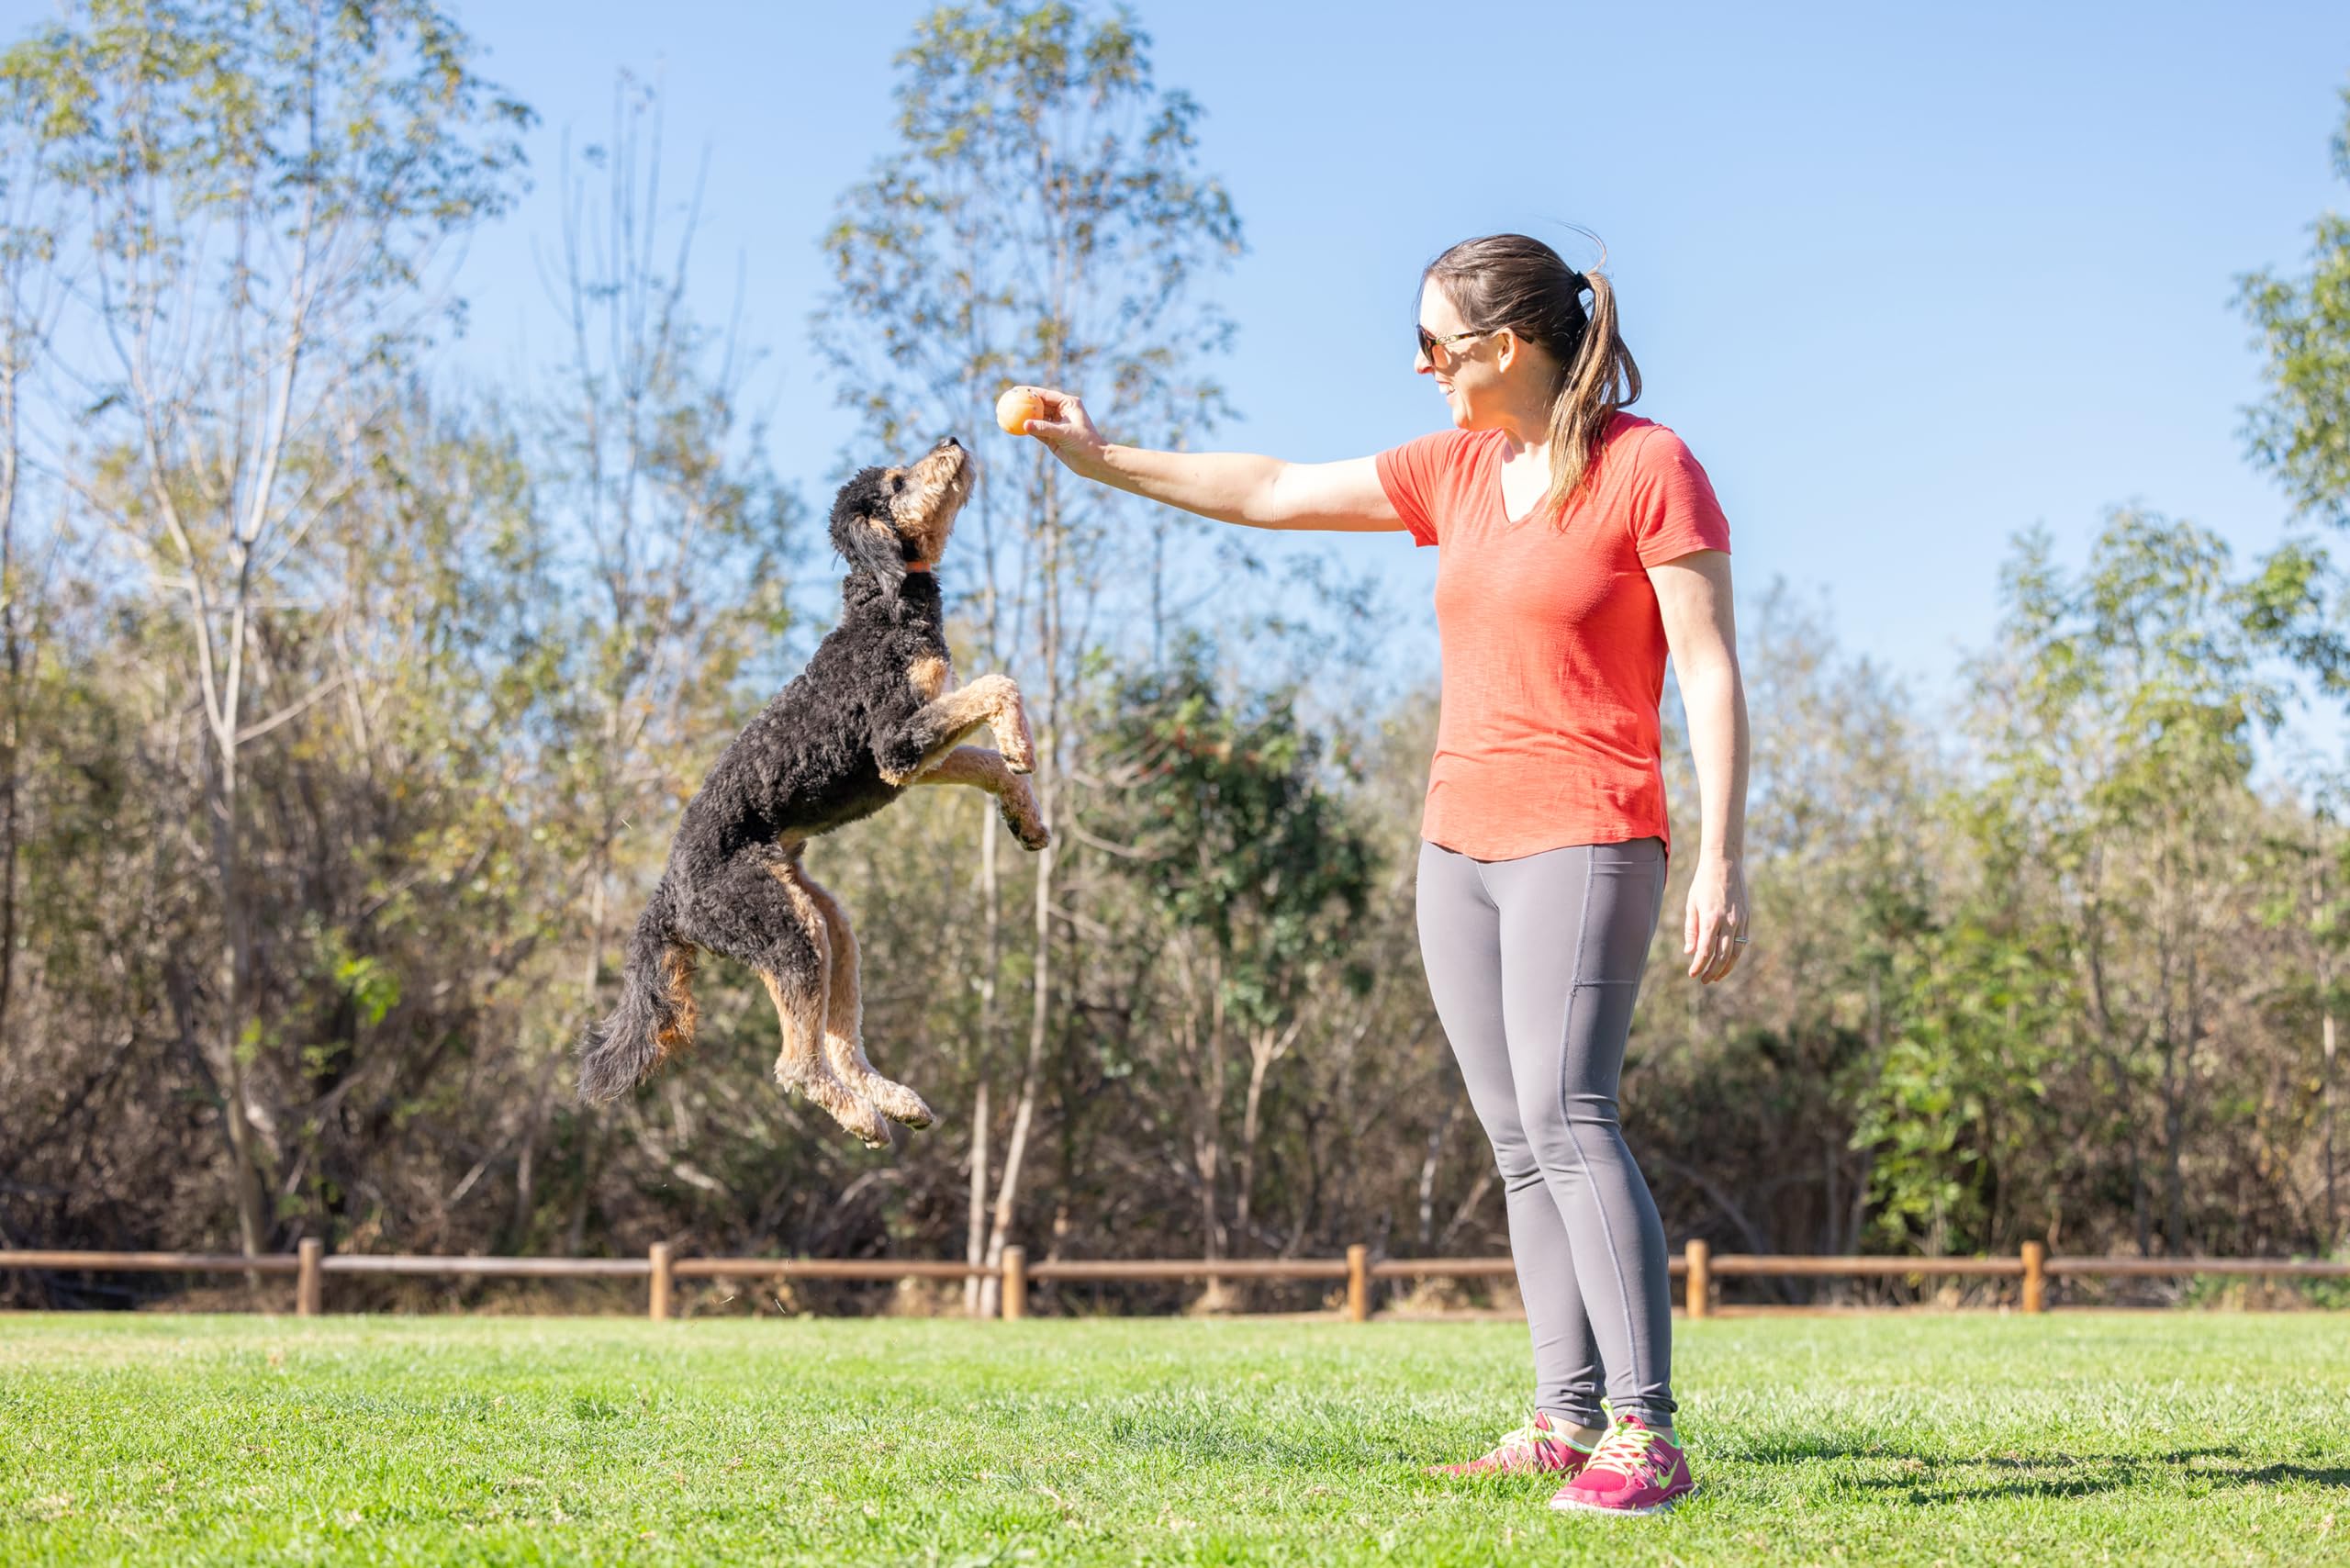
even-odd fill
[[(540, 1095), (522, 1135), (517, 1229), (533, 1206), (557, 1072), (578, 1030), (604, 1013), (604, 964), (634, 919), (630, 900), (651, 886), (677, 809), (747, 717), (745, 672), (773, 677), (759, 654), (790, 625), (794, 501), (764, 461), (766, 430), (743, 416), (750, 357), (686, 306), (700, 190), (672, 230), (660, 155), (660, 99), (623, 75), (611, 139), (564, 158), (550, 280), (564, 360), (526, 411), (548, 529), (540, 651), (566, 708), (545, 733), (543, 827), (573, 867), (580, 966), (578, 1011), (536, 1044)], [(599, 1126), (585, 1128), (569, 1251), (583, 1246)], [(649, 1147), (642, 1124), (634, 1131)]]

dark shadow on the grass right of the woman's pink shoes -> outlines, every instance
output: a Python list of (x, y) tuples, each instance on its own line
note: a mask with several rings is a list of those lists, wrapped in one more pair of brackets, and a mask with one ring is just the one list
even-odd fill
[(1812, 1465), (1849, 1460), (1894, 1465), (1889, 1476), (1840, 1476), (1854, 1493), (1901, 1493), (1906, 1502), (1972, 1502), (1993, 1497), (2089, 1497), (2117, 1490), (2308, 1483), (2350, 1490), (2350, 1465), (2254, 1462), (2242, 1448), (2174, 1448), (2169, 1453), (1979, 1453), (1925, 1455), (1894, 1446), (1786, 1443), (1762, 1453), (1723, 1455), (1739, 1465)]

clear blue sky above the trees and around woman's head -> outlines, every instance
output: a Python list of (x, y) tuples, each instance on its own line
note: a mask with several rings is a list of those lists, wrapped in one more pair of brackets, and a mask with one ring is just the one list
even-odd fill
[[(0, 2), (14, 33), (45, 7)], [(888, 141), (891, 52), (926, 9), (458, 0), (486, 71), (543, 113), (538, 188), (472, 244), (470, 374), (557, 346), (531, 244), (564, 129), (613, 71), (665, 85), (677, 174), (710, 153), (696, 294), (736, 268), (771, 350), (776, 463), (811, 498), (848, 423), (801, 362), (815, 235)], [(1443, 421), (1410, 374), (1419, 266), (1497, 228), (1607, 237), (1647, 376), (1732, 517), (1741, 588), (1824, 590), (1847, 646), (1934, 698), (1998, 611), (2007, 538), (2077, 559), (2141, 501), (2244, 552), (2287, 527), (2242, 458), (2258, 362), (2230, 296), (2350, 205), (2326, 139), (2343, 5), (1234, 5), (1147, 0), (1163, 85), (1206, 106), (1250, 254), (1224, 444), (1335, 458)], [(1112, 433), (1114, 435), (1114, 433)], [(1434, 668), (1434, 552), (1382, 571), (1398, 658)]]

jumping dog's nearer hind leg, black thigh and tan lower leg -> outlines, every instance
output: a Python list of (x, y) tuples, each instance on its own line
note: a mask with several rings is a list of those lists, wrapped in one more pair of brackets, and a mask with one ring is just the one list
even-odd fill
[(888, 1143), (888, 1121), (825, 1051), (832, 936), (799, 886), (792, 858), (768, 844), (736, 853), (693, 893), (691, 936), (710, 952), (759, 971), (783, 1025), (776, 1081), (797, 1088), (865, 1143)]

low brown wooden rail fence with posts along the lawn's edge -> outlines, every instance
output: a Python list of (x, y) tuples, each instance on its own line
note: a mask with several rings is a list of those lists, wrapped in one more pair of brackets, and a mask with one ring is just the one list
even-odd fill
[[(432, 1258), (416, 1253), (327, 1253), (322, 1241), (303, 1241), (294, 1255), (270, 1253), (240, 1258), (233, 1253), (68, 1253), (5, 1251), (0, 1269), (54, 1269), (80, 1274), (176, 1272), (176, 1274), (291, 1274), (294, 1312), (317, 1316), (324, 1309), (327, 1274), (423, 1274), (423, 1276), (501, 1276), (501, 1279), (644, 1279), (646, 1316), (667, 1319), (679, 1279), (996, 1279), (1001, 1314), (1027, 1316), (1029, 1284), (1109, 1284), (1109, 1281), (1180, 1281), (1180, 1279), (1292, 1279), (1347, 1281), (1344, 1316), (1370, 1316), (1370, 1281), (1375, 1279), (1497, 1279), (1518, 1269), (1509, 1258), (1370, 1258), (1368, 1246), (1349, 1246), (1344, 1258), (1041, 1258), (1027, 1260), (1018, 1246), (1003, 1248), (1001, 1265), (940, 1262), (924, 1258), (677, 1258), (656, 1241), (644, 1258)], [(2195, 1274), (2232, 1274), (2258, 1279), (2350, 1279), (2350, 1262), (2312, 1262), (2303, 1258), (2049, 1258), (2037, 1241), (2026, 1241), (2014, 1258), (1807, 1258), (1777, 1253), (1723, 1253), (1704, 1241), (1690, 1241), (1671, 1260), (1671, 1274), (1683, 1279), (1690, 1316), (1713, 1314), (1713, 1281), (1732, 1276), (1800, 1279), (2019, 1279), (2023, 1312), (2047, 1312), (2049, 1276), (2129, 1276), (2186, 1279)]]

